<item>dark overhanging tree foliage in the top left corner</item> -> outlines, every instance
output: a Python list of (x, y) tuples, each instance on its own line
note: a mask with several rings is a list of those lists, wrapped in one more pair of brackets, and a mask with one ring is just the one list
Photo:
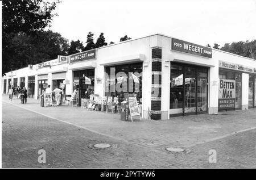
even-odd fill
[(25, 33), (42, 31), (56, 15), (52, 14), (52, 11), (55, 10), (57, 3), (60, 1), (52, 3), (43, 0), (3, 1), (3, 32), (10, 34), (20, 31)]

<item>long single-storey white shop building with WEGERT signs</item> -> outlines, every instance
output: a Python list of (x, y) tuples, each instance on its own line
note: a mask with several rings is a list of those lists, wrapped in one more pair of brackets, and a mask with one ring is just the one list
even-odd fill
[(90, 94), (119, 101), (136, 94), (146, 119), (256, 107), (256, 60), (162, 34), (14, 70), (2, 77), (2, 93), (26, 86), (28, 98), (38, 99), (61, 83), (65, 95), (77, 90), (78, 105)]

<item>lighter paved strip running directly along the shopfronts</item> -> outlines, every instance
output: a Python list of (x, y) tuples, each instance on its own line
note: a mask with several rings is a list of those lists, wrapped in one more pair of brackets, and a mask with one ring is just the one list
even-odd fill
[(188, 148), (216, 137), (226, 137), (230, 133), (256, 127), (256, 109), (228, 111), (222, 115), (203, 114), (175, 117), (170, 120), (143, 119), (123, 122), (118, 114), (88, 111), (81, 107), (40, 107), (39, 100), (36, 99), (28, 99), (27, 104), (21, 104), (19, 99), (14, 98), (10, 101), (7, 95), (2, 95), (2, 101), (118, 140), (156, 149), (163, 149), (166, 146)]

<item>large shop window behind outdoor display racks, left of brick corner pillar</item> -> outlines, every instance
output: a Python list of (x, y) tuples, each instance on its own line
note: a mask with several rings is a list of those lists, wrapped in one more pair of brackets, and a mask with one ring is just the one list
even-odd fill
[[(118, 97), (118, 102), (124, 100), (124, 94), (137, 94), (137, 101), (142, 103), (142, 62), (107, 66), (105, 68), (105, 95)], [(133, 75), (139, 82), (134, 82)]]

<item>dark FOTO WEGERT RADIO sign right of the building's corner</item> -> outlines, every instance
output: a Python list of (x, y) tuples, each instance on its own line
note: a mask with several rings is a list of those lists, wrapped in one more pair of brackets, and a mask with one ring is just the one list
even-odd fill
[(212, 58), (212, 49), (172, 38), (172, 50)]

